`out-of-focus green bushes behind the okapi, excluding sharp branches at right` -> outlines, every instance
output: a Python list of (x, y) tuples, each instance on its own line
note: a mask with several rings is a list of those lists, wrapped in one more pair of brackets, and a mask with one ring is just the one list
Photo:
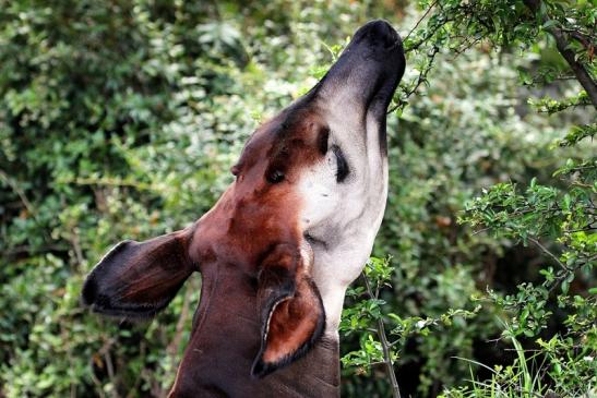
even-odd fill
[[(114, 243), (206, 212), (244, 140), (309, 89), (358, 26), (384, 17), (405, 37), (422, 14), (409, 0), (2, 0), (0, 10), (0, 397), (165, 397), (200, 277), (156, 319), (132, 323), (81, 307), (85, 275)], [(594, 113), (548, 118), (526, 104), (520, 71), (563, 63), (553, 50), (481, 44), (438, 57), (429, 85), (389, 116), (390, 198), (373, 254), (392, 255), (384, 299), (405, 317), (473, 311), (488, 286), (506, 294), (533, 281), (537, 248), (470, 233), (458, 212), (485, 186), (548, 181), (595, 149), (550, 148)], [(417, 65), (409, 58), (405, 82)], [(466, 383), (470, 363), (456, 357), (510, 363), (492, 341), (500, 311), (489, 303), (405, 341), (403, 396)], [(343, 337), (343, 353), (358, 347), (357, 334)], [(343, 396), (387, 388), (383, 367), (343, 367)]]

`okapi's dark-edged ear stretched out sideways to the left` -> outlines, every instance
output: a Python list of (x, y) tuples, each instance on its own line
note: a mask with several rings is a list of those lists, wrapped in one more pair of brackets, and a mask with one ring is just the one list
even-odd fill
[(189, 257), (191, 237), (190, 230), (181, 230), (145, 242), (118, 243), (87, 276), (83, 303), (107, 315), (156, 314), (196, 270)]

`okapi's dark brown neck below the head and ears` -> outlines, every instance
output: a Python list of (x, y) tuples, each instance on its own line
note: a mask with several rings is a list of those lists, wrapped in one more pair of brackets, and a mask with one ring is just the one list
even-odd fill
[(202, 265), (201, 302), (170, 398), (339, 397), (336, 336), (264, 378), (251, 377), (260, 349), (254, 277), (224, 262)]

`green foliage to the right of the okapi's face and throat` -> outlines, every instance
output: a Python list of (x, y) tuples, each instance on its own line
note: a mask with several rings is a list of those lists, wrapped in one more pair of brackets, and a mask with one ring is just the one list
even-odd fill
[[(419, 395), (442, 389), (446, 396), (477, 397), (592, 394), (597, 185), (595, 147), (585, 138), (594, 135), (596, 104), (569, 84), (575, 77), (558, 53), (560, 44), (556, 52), (550, 45), (565, 36), (566, 50), (595, 76), (586, 45), (594, 39), (595, 10), (588, 2), (570, 8), (563, 1), (419, 5), (423, 13), (405, 40), (416, 73), (407, 74), (395, 97), (401, 124), (398, 150), (392, 155), (399, 165), (391, 170), (386, 221), (377, 246), (378, 253), (394, 256), (396, 269), (373, 301), (366, 290), (351, 291), (357, 300), (359, 293), (366, 299), (345, 310), (343, 329), (347, 337), (361, 330), (362, 337), (360, 349), (343, 361), (368, 377), (377, 376), (371, 370), (380, 361), (395, 363), (389, 369), (397, 369), (399, 382), (401, 372), (418, 365)], [(516, 75), (518, 84), (529, 87), (524, 95)], [(550, 96), (569, 98), (541, 94), (542, 99), (528, 100), (539, 112), (553, 114), (550, 120), (521, 111), (520, 97), (540, 85)], [(563, 110), (568, 113), (559, 113)], [(561, 149), (571, 146), (574, 152)], [(523, 192), (521, 185), (526, 185)], [(536, 260), (501, 276), (495, 258), (527, 245), (535, 248)], [(370, 274), (363, 278), (367, 286)], [(434, 328), (454, 314), (465, 316)], [(390, 331), (374, 328), (374, 319)], [(546, 338), (558, 349), (541, 345)], [(487, 347), (489, 339), (501, 343)], [(516, 357), (505, 365), (500, 351), (509, 345)], [(384, 348), (390, 355), (382, 357)], [(499, 364), (479, 362), (477, 351), (482, 350), (493, 351), (486, 358)], [(470, 366), (469, 384), (464, 384), (462, 366)], [(403, 394), (405, 385), (407, 394), (413, 391), (407, 377)], [(451, 389), (451, 384), (464, 385)]]

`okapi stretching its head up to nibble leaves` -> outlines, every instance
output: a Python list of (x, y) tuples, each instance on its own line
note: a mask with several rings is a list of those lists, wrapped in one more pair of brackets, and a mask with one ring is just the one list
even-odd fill
[(202, 275), (169, 397), (338, 397), (344, 294), (387, 196), (386, 111), (405, 68), (384, 21), (359, 28), (327, 74), (249, 138), (235, 182), (190, 227), (123, 241), (82, 301), (147, 317)]

